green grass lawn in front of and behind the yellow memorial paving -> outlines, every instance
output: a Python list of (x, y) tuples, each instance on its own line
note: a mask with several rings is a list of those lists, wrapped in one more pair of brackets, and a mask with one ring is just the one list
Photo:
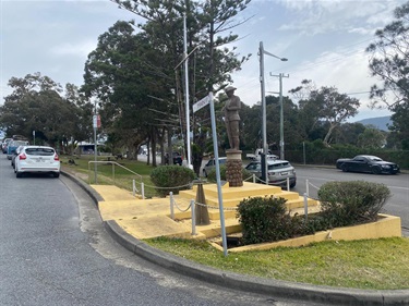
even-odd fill
[[(94, 175), (94, 169), (88, 170), (88, 161), (94, 160), (94, 156), (75, 159), (77, 166), (69, 166), (68, 159), (61, 158), (62, 169), (81, 173), (88, 182), (88, 174)], [(129, 160), (117, 162), (141, 174), (146, 185), (151, 184), (151, 166)], [(98, 164), (97, 169), (98, 184), (112, 184), (115, 181), (123, 188), (132, 188), (130, 182), (135, 179), (134, 174), (116, 167), (112, 179), (111, 164)], [(340, 287), (409, 289), (409, 238), (406, 237), (330, 241), (303, 247), (242, 252), (227, 257), (203, 241), (160, 237), (145, 242), (189, 260), (236, 273)]]

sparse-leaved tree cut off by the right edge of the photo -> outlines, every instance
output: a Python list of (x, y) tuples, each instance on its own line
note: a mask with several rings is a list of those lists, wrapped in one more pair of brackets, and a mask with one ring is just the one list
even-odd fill
[(397, 7), (395, 20), (375, 33), (368, 48), (369, 69), (382, 83), (371, 87), (373, 107), (387, 107), (394, 114), (389, 130), (409, 148), (409, 2)]

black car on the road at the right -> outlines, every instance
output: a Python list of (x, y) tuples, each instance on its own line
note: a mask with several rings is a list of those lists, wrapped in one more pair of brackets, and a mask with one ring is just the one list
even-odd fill
[(336, 162), (337, 169), (344, 172), (369, 172), (373, 174), (396, 174), (400, 172), (395, 162), (384, 161), (372, 155), (358, 155), (354, 158), (340, 158)]

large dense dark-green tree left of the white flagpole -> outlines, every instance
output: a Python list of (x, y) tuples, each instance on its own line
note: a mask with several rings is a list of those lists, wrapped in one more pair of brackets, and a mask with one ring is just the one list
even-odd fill
[[(99, 36), (97, 48), (85, 63), (82, 90), (98, 99), (98, 112), (108, 135), (116, 135), (117, 143), (132, 150), (128, 156), (136, 156), (146, 139), (156, 140), (159, 120), (165, 120), (170, 111), (169, 106), (149, 98), (170, 93), (165, 86), (166, 77), (158, 77), (153, 69), (165, 64), (163, 58), (166, 59), (160, 52), (154, 52), (146, 35), (135, 34), (128, 22), (117, 22)], [(156, 146), (152, 148), (155, 157)], [(153, 164), (156, 166), (156, 158)]]

